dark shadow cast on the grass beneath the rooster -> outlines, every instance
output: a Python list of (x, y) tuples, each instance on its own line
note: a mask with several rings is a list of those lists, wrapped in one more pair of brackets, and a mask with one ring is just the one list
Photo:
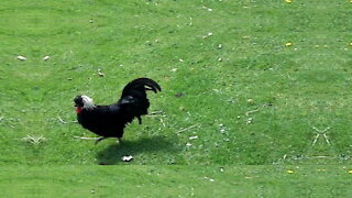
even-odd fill
[[(134, 157), (141, 153), (175, 153), (177, 151), (175, 142), (170, 142), (163, 136), (153, 136), (111, 144), (97, 154), (97, 161), (99, 165), (114, 165), (125, 163), (121, 160), (124, 155), (132, 155)], [(141, 164), (145, 161), (143, 157), (139, 158)]]

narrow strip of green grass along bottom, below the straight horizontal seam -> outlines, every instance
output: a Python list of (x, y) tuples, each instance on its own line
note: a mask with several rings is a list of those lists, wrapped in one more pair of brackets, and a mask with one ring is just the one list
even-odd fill
[(351, 174), (340, 166), (44, 166), (2, 170), (0, 188), (8, 197), (349, 197), (352, 193)]

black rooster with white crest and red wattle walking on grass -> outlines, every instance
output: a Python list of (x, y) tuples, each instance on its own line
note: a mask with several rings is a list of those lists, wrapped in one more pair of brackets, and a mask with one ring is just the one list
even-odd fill
[(96, 106), (91, 98), (77, 96), (74, 101), (78, 123), (101, 136), (96, 144), (107, 138), (118, 138), (121, 141), (124, 127), (134, 118), (142, 124), (141, 116), (147, 114), (147, 90), (156, 94), (162, 89), (150, 78), (138, 78), (129, 82), (123, 88), (119, 101), (110, 106)]

